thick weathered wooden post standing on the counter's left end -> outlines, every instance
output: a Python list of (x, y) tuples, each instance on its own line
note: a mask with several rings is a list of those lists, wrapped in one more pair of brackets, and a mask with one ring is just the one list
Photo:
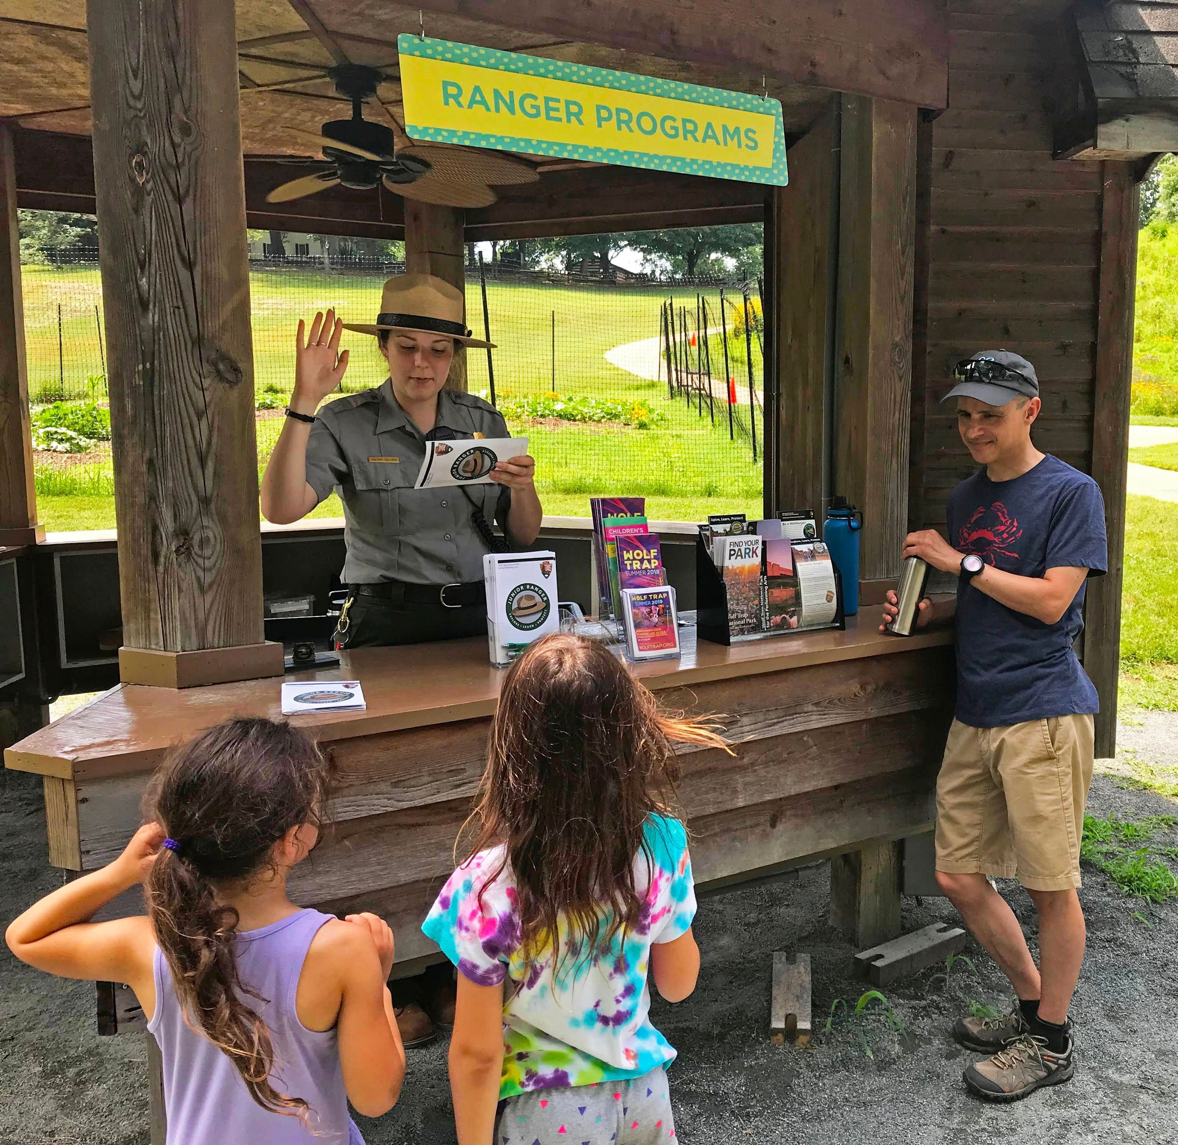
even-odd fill
[(262, 624), (233, 0), (104, 0), (87, 29), (120, 675), (278, 675)]

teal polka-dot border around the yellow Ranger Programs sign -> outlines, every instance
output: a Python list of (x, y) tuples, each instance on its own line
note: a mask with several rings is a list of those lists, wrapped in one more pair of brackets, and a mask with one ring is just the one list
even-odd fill
[(706, 176), (715, 179), (739, 179), (743, 183), (763, 183), (785, 186), (786, 139), (781, 119), (781, 104), (748, 92), (728, 92), (719, 87), (702, 87), (679, 80), (659, 79), (654, 75), (637, 75), (631, 72), (615, 72), (604, 67), (584, 64), (568, 64), (538, 55), (522, 55), (517, 52), (501, 52), (496, 48), (477, 47), (472, 44), (454, 44), (449, 40), (431, 40), (419, 35), (402, 33), (397, 38), (397, 49), (403, 55), (419, 55), (428, 59), (468, 64), (498, 72), (521, 75), (537, 75), (548, 79), (569, 80), (593, 87), (637, 92), (644, 95), (662, 95), (697, 105), (728, 107), (737, 111), (772, 113), (775, 120), (773, 138), (773, 164), (769, 167), (753, 167), (739, 163), (713, 159), (689, 159), (680, 155), (660, 155), (648, 152), (626, 151), (615, 147), (590, 147), (584, 144), (555, 143), (544, 139), (528, 139), (518, 135), (488, 135), (481, 132), (454, 131), (450, 128), (405, 124), (410, 138), (434, 143), (462, 144), (468, 147), (490, 147), (496, 151), (525, 151), (530, 154), (552, 155), (562, 159), (581, 159), (588, 163), (605, 163), (622, 167), (646, 167), (657, 171), (677, 171), (682, 174)]

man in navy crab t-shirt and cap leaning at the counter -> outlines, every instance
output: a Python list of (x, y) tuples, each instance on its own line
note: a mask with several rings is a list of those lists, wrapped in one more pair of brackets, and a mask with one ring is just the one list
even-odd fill
[[(957, 615), (957, 719), (937, 781), (937, 881), (1011, 980), (1001, 1019), (954, 1035), (988, 1052), (965, 1071), (979, 1097), (1013, 1101), (1072, 1077), (1067, 1008), (1084, 959), (1080, 834), (1092, 779), (1096, 688), (1072, 644), (1087, 577), (1106, 571), (1097, 483), (1031, 442), (1039, 382), (1006, 350), (959, 363), (958, 429), (982, 468), (949, 494), (948, 541), (909, 534), (904, 556), (958, 576), (955, 601), (920, 602), (918, 624)], [(895, 615), (888, 594), (885, 623)], [(1018, 878), (1039, 913), (1039, 966), (988, 876)]]

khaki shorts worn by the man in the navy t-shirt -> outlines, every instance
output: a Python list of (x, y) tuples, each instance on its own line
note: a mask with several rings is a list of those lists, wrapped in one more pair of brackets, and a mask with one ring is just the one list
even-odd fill
[(1006, 728), (954, 720), (937, 779), (937, 869), (1078, 887), (1092, 749), (1090, 715)]

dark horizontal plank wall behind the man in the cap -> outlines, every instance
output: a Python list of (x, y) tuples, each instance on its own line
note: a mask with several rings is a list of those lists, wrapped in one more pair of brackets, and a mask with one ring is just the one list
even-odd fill
[(1092, 468), (1101, 173), (1051, 158), (1035, 39), (1050, 8), (949, 0), (949, 108), (932, 125), (925, 525), (944, 525), (949, 490), (974, 469), (939, 399), (979, 350), (1034, 363), (1035, 444)]

